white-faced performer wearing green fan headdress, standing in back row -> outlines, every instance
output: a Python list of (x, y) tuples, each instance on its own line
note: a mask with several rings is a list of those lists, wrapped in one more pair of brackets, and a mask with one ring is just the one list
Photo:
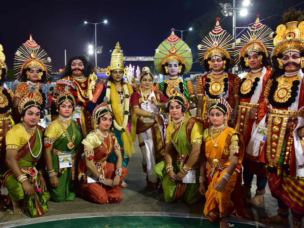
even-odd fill
[[(169, 79), (156, 84), (156, 89), (167, 98), (171, 97), (174, 88), (180, 88), (180, 92), (190, 103), (186, 114), (191, 116), (190, 109), (197, 106), (195, 88), (191, 81), (186, 81), (180, 75), (187, 74), (192, 67), (192, 53), (188, 45), (174, 34), (164, 40), (155, 50), (155, 70), (162, 75), (169, 75)], [(171, 121), (171, 120), (169, 120)]]

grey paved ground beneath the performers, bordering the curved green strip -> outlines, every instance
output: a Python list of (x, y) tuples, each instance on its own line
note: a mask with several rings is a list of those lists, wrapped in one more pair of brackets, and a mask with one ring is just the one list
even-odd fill
[[(13, 227), (30, 223), (39, 223), (60, 219), (73, 219), (83, 217), (97, 216), (178, 216), (186, 218), (202, 218), (206, 219), (203, 214), (204, 201), (196, 204), (188, 205), (185, 203), (166, 203), (164, 202), (164, 194), (159, 194), (158, 191), (149, 192), (146, 187), (146, 174), (142, 171), (142, 155), (138, 147), (138, 141), (134, 143), (136, 154), (133, 154), (128, 164), (128, 175), (125, 180), (128, 184), (127, 188), (123, 188), (123, 201), (118, 204), (98, 205), (87, 202), (84, 199), (76, 197), (72, 202), (48, 202), (49, 211), (38, 218), (29, 218), (24, 213), (14, 213), (12, 207), (6, 211), (0, 211), (0, 227)], [(255, 179), (254, 179), (255, 181)], [(253, 181), (253, 183), (255, 183)], [(254, 184), (253, 184), (253, 188)], [(6, 189), (1, 189), (3, 194), (7, 193)], [(254, 191), (254, 190), (253, 190)], [(248, 223), (253, 225), (285, 228), (292, 227), (291, 213), (289, 223), (259, 223), (259, 219), (276, 214), (277, 203), (270, 195), (268, 186), (266, 187), (265, 203), (260, 206), (247, 209), (251, 214), (252, 220), (240, 219), (236, 216), (228, 218), (230, 224), (233, 222)], [(73, 220), (71, 220), (72, 222)], [(101, 224), (100, 227), (104, 225)], [(121, 224), (120, 227), (124, 227)], [(149, 227), (149, 226), (146, 226)], [(235, 224), (235, 227), (238, 227)]]

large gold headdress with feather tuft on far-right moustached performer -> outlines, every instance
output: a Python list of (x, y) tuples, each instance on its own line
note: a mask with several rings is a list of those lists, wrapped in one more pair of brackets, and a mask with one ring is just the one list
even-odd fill
[[(292, 14), (292, 9), (286, 14)], [(296, 20), (297, 18), (294, 18)], [(304, 21), (291, 21), (285, 25), (279, 25), (273, 40), (275, 47), (271, 53), (271, 61), (274, 68), (283, 69), (283, 54), (288, 51), (295, 51), (301, 55), (300, 67), (304, 68)], [(277, 66), (278, 65), (278, 66)]]

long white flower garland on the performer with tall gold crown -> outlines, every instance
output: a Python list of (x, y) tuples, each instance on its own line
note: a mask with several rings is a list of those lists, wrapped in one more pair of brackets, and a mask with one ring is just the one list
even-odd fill
[[(111, 102), (110, 102), (110, 91), (111, 91), (111, 81), (108, 81), (107, 82), (107, 89), (106, 89), (106, 92), (105, 92), (105, 96), (109, 98), (109, 102), (108, 102), (108, 105), (109, 105), (109, 108), (110, 108), (110, 111), (112, 111), (112, 105), (111, 105)], [(127, 124), (128, 124), (128, 116), (129, 116), (129, 108), (130, 108), (130, 94), (129, 94), (129, 89), (128, 89), (128, 85), (126, 82), (123, 82), (123, 91), (125, 92), (125, 106), (123, 107), (124, 109), (124, 113), (123, 115), (125, 115), (123, 117), (123, 124), (122, 126), (119, 126), (116, 122), (116, 120), (114, 119), (113, 122), (114, 122), (114, 127), (119, 130), (119, 131), (122, 131), (124, 132), (126, 127), (127, 127)], [(125, 118), (126, 117), (126, 118)]]

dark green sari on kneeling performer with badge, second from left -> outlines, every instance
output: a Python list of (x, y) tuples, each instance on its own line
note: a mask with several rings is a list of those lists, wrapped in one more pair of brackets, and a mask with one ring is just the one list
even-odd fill
[[(81, 131), (80, 126), (78, 123), (74, 120), (72, 120), (75, 126), (75, 140), (74, 140), (74, 147), (72, 149), (67, 148), (67, 136), (63, 132), (53, 143), (53, 149), (51, 152), (52, 160), (53, 160), (53, 169), (55, 172), (61, 173), (57, 176), (59, 180), (59, 185), (54, 188), (52, 186), (49, 186), (48, 189), (51, 194), (51, 200), (55, 202), (62, 202), (62, 201), (73, 201), (74, 197), (76, 195), (75, 187), (74, 187), (74, 179), (75, 179), (75, 172), (77, 167), (77, 161), (76, 161), (76, 151), (81, 143)], [(55, 122), (53, 122), (55, 123)], [(50, 127), (52, 123), (49, 124)], [(55, 123), (56, 124), (56, 123)], [(48, 126), (48, 127), (49, 127)], [(60, 126), (59, 126), (60, 127)], [(61, 128), (61, 127), (60, 127)], [(73, 127), (72, 125), (67, 127), (67, 133), (70, 136), (70, 139), (72, 139), (73, 136)], [(70, 168), (60, 168), (60, 172), (58, 169), (58, 155), (69, 155), (71, 154), (72, 157), (72, 167)]]

